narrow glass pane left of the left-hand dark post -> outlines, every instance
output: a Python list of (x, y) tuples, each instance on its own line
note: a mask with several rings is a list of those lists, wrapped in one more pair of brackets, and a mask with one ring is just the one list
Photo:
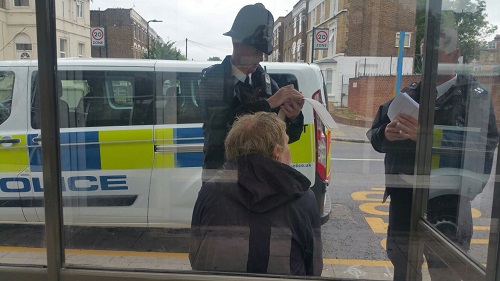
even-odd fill
[[(0, 62), (0, 267), (46, 267), (43, 220), (43, 179), (40, 177), (39, 130), (28, 128), (31, 68), (36, 68), (35, 6), (30, 1), (2, 1)], [(16, 24), (7, 24), (15, 19)], [(29, 67), (31, 66), (31, 67)], [(33, 169), (31, 169), (33, 168)], [(16, 279), (15, 277), (2, 278)]]

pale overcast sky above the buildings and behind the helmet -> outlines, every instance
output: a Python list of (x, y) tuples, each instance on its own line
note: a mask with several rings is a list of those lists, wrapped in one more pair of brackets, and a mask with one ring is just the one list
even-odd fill
[[(261, 2), (276, 20), (292, 11), (299, 0), (92, 0), (91, 10), (133, 8), (150, 23), (163, 40), (175, 42), (189, 60), (206, 61), (209, 57), (223, 59), (232, 50), (231, 38), (222, 33), (231, 29), (238, 11), (245, 5)], [(486, 0), (488, 20), (498, 26), (500, 34), (500, 1)], [(493, 39), (494, 35), (487, 39)]]

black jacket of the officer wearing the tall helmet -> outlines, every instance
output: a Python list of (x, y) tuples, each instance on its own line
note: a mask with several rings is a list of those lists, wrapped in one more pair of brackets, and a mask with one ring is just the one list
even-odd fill
[[(278, 85), (270, 79), (271, 93), (261, 79), (264, 69), (258, 67), (252, 73), (252, 86), (241, 82), (234, 84), (231, 56), (227, 56), (220, 64), (213, 65), (202, 72), (199, 83), (197, 102), (203, 119), (203, 168), (219, 169), (224, 164), (224, 140), (237, 116), (259, 111), (276, 111), (272, 109), (267, 98), (278, 91)], [(236, 89), (235, 89), (236, 88)], [(237, 95), (235, 95), (235, 90)], [(302, 113), (294, 120), (287, 122), (289, 143), (300, 138), (304, 125)]]

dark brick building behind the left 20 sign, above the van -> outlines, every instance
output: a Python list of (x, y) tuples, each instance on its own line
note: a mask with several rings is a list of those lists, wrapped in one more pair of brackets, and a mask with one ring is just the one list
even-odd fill
[[(92, 47), (92, 57), (144, 58), (147, 53), (148, 22), (134, 9), (106, 9), (90, 11), (90, 25), (104, 27), (106, 46)], [(150, 44), (163, 42), (149, 26)]]

